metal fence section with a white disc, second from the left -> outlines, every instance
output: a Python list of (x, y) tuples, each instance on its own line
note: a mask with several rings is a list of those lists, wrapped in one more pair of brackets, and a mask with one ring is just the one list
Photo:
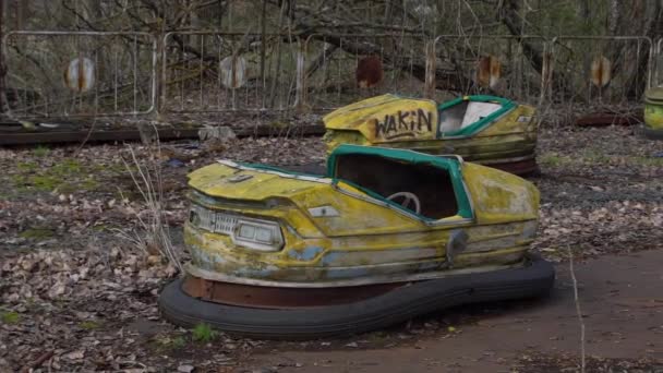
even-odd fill
[[(164, 37), (164, 113), (285, 110), (297, 101), (301, 43), (289, 35), (178, 32)], [(275, 47), (267, 49), (267, 41)], [(300, 62), (301, 63), (301, 62)]]

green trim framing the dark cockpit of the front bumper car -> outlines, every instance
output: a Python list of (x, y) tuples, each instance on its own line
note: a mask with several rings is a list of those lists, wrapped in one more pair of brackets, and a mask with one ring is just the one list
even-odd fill
[[(350, 181), (347, 181), (343, 179), (337, 179), (335, 177), (336, 166), (338, 163), (337, 158), (339, 156), (348, 155), (348, 154), (372, 155), (372, 156), (378, 156), (378, 157), (384, 157), (384, 158), (389, 158), (389, 159), (405, 160), (405, 161), (411, 163), (411, 164), (429, 164), (434, 167), (442, 168), (443, 170), (448, 171), (449, 177), (451, 178), (451, 184), (454, 185), (454, 194), (456, 195), (456, 202), (458, 203), (458, 214), (457, 215), (460, 215), (463, 218), (473, 218), (470, 200), (466, 193), (466, 189), (462, 183), (462, 175), (460, 171), (460, 163), (458, 161), (458, 159), (439, 157), (439, 156), (422, 154), (422, 153), (417, 153), (417, 152), (406, 151), (406, 149), (394, 149), (394, 148), (385, 148), (385, 147), (377, 147), (377, 146), (360, 146), (360, 145), (349, 145), (349, 144), (339, 145), (336, 149), (334, 149), (334, 152), (332, 152), (332, 154), (327, 158), (327, 177), (329, 177), (334, 180), (333, 183), (335, 185), (338, 183), (339, 180), (343, 181), (343, 182), (361, 190), (362, 192), (369, 194), (371, 197), (389, 203), (394, 206), (408, 210), (409, 213), (412, 213), (412, 214), (414, 214), (414, 213), (411, 212), (410, 209), (407, 209), (407, 208), (402, 207), (401, 205), (394, 203), (375, 192), (372, 192), (362, 186), (355, 185), (354, 183), (352, 183)], [(437, 219), (427, 218), (423, 215), (418, 215), (418, 214), (415, 214), (415, 215), (419, 218), (421, 218), (422, 220), (426, 220), (426, 221), (437, 220)]]

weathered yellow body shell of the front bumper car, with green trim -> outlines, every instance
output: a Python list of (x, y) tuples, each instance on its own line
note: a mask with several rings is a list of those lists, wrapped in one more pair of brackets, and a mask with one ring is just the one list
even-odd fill
[[(457, 195), (467, 194), (467, 205), (460, 203), (456, 215), (430, 219), (334, 178), (336, 157), (359, 153), (456, 168), (454, 188), (462, 190)], [(350, 286), (518, 265), (535, 234), (539, 192), (516, 176), (455, 157), (350, 145), (338, 148), (328, 165), (329, 176), (230, 161), (192, 172), (193, 204), (278, 222), (285, 244), (273, 252), (256, 251), (188, 221), (184, 241), (192, 254), (190, 272), (264, 286), (275, 281)], [(333, 207), (334, 214), (312, 214), (325, 206)], [(462, 242), (455, 252), (459, 237)]]

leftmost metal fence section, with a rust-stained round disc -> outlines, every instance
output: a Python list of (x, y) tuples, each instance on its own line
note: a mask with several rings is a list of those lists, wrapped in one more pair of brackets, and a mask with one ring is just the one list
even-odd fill
[(147, 33), (9, 33), (9, 110), (17, 118), (148, 115), (156, 103), (156, 46)]

